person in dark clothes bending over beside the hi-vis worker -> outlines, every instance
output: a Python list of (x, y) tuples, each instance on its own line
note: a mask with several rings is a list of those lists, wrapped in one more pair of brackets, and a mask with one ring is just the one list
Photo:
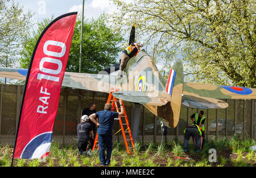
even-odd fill
[(184, 151), (188, 151), (188, 140), (190, 136), (196, 140), (196, 152), (200, 152), (200, 136), (202, 135), (201, 128), (196, 124), (188, 125), (184, 130)]

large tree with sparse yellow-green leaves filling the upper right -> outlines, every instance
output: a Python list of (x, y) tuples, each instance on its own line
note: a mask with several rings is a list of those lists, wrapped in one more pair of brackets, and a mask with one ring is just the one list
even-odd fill
[(190, 80), (256, 88), (253, 0), (112, 1), (117, 28), (135, 22), (167, 64), (181, 54)]

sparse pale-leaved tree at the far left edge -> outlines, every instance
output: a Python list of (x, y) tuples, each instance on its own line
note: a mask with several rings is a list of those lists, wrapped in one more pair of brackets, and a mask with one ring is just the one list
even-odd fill
[(0, 0), (0, 65), (14, 64), (20, 45), (31, 26), (32, 14), (24, 13), (18, 3)]

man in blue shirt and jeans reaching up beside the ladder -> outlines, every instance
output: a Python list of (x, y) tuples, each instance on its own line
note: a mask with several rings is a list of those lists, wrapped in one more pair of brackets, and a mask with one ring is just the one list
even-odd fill
[[(122, 99), (119, 99), (119, 104), (121, 106), (121, 113), (117, 113), (115, 111), (111, 111), (112, 105), (106, 103), (104, 106), (104, 111), (98, 111), (89, 116), (90, 120), (96, 124), (98, 127), (98, 145), (99, 145), (99, 155), (101, 165), (109, 165), (110, 158), (112, 154), (112, 128), (114, 118), (119, 115), (125, 114), (125, 110), (123, 109)], [(96, 121), (98, 118), (98, 122)], [(107, 147), (107, 155), (105, 158), (105, 146)]]

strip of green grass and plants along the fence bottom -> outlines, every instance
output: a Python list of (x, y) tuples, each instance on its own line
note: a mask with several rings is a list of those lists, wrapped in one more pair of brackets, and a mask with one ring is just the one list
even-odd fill
[[(241, 140), (234, 136), (226, 141), (209, 139), (206, 140), (204, 150), (195, 152), (192, 143), (188, 144), (188, 153), (183, 152), (183, 143), (170, 142), (156, 145), (154, 143), (143, 147), (141, 143), (135, 143), (136, 154), (129, 155), (123, 143), (114, 143), (112, 160), (110, 167), (208, 167), (208, 166), (233, 166), (233, 167), (255, 167), (255, 152), (249, 148), (255, 145), (254, 140)], [(210, 163), (209, 149), (214, 148), (217, 151), (217, 162)], [(98, 150), (93, 151), (91, 156), (77, 155), (76, 147), (60, 147), (59, 144), (52, 142), (50, 154), (44, 159), (14, 159), (16, 167), (94, 167), (100, 166)], [(231, 155), (231, 156), (230, 156)], [(10, 146), (0, 147), (0, 166), (11, 165), (12, 148)], [(176, 159), (178, 157), (189, 157), (190, 161)]]

